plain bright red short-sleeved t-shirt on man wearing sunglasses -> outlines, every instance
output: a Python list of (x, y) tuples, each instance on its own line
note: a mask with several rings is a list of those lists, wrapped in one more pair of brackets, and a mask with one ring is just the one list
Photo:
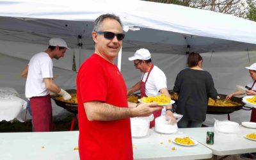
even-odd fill
[(92, 100), (128, 107), (122, 74), (97, 54), (77, 74), (80, 159), (133, 159), (130, 119), (88, 121), (83, 103)]

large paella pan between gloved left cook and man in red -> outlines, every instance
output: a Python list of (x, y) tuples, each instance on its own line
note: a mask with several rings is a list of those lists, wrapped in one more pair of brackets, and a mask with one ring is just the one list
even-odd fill
[(67, 109), (72, 113), (77, 113), (77, 97), (76, 97), (76, 90), (66, 90), (70, 93), (72, 99), (70, 100), (63, 100), (61, 96), (52, 96), (51, 98), (55, 101), (55, 103), (60, 106), (61, 108)]

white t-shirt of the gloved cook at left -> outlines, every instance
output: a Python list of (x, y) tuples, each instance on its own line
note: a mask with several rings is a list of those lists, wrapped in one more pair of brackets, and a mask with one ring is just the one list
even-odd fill
[(29, 61), (25, 95), (27, 98), (45, 96), (49, 91), (44, 78), (52, 78), (52, 59), (46, 52), (35, 54)]

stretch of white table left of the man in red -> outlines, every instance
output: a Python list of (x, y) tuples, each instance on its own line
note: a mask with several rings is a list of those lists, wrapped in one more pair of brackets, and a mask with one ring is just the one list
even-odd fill
[(0, 133), (1, 160), (79, 160), (78, 131)]

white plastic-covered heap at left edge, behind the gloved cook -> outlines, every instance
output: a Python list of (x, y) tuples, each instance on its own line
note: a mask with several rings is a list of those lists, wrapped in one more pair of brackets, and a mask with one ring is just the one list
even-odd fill
[(27, 108), (26, 100), (20, 99), (19, 94), (13, 88), (0, 88), (0, 121), (10, 121), (15, 118), (22, 120), (22, 111)]

